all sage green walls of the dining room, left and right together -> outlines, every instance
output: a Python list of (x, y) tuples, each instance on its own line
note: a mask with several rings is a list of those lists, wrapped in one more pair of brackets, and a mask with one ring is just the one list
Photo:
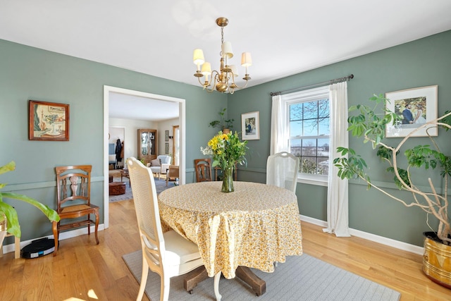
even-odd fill
[[(0, 183), (8, 183), (5, 191), (24, 193), (55, 207), (54, 167), (92, 164), (93, 202), (103, 207), (104, 197), (107, 197), (103, 195), (104, 85), (186, 99), (186, 160), (187, 173), (190, 173), (187, 182), (192, 178), (193, 160), (202, 157), (199, 147), (205, 146), (216, 133), (208, 124), (216, 119), (221, 108), (228, 107), (228, 117), (235, 119), (233, 129), (238, 131), (242, 113), (259, 111), (261, 138), (249, 141), (248, 165), (240, 166), (238, 178), (264, 183), (270, 142), (270, 92), (352, 73), (355, 77), (348, 82), (350, 105), (366, 102), (373, 93), (438, 85), (440, 114), (450, 109), (449, 49), (451, 31), (227, 95), (210, 94), (202, 91), (202, 87), (0, 40), (0, 164), (11, 160), (17, 164), (16, 171), (0, 176)], [(27, 139), (29, 99), (70, 104), (69, 142)], [(440, 142), (450, 149), (451, 142), (443, 136), (439, 131)], [(414, 142), (426, 143), (425, 139), (415, 138)], [(352, 138), (350, 146), (357, 150), (369, 147)], [(375, 160), (369, 159), (370, 164), (377, 163)], [(382, 168), (373, 168), (372, 172), (373, 180), (392, 187)], [(301, 214), (326, 220), (326, 195), (327, 189), (323, 186), (299, 183), (297, 197)], [(51, 234), (50, 223), (37, 209), (16, 201), (11, 204), (19, 211), (22, 240)], [(103, 215), (103, 208), (101, 211)], [(425, 221), (423, 212), (406, 209), (375, 190), (367, 191), (363, 183), (350, 183), (351, 228), (422, 245), (421, 232), (428, 230)]]

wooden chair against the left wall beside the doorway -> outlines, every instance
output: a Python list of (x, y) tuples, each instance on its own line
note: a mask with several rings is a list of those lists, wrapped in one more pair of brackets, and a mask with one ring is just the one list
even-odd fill
[[(97, 228), (99, 228), (99, 207), (91, 204), (91, 165), (57, 166), (56, 170), (56, 212), (60, 221), (52, 224), (55, 250), (58, 251), (58, 237), (60, 231), (87, 226), (87, 234), (94, 234), (97, 245)], [(94, 214), (95, 220), (91, 219)], [(79, 219), (85, 217), (85, 219)], [(61, 223), (63, 220), (65, 223)]]

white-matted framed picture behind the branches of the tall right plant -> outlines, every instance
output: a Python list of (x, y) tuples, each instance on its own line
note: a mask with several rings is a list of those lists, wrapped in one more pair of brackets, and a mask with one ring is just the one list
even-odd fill
[[(401, 118), (397, 124), (385, 128), (385, 137), (405, 137), (412, 130), (437, 118), (437, 93), (437, 85), (385, 93), (385, 98), (389, 99), (386, 109)], [(437, 127), (421, 128), (412, 137), (427, 137), (428, 134), (437, 136)]]

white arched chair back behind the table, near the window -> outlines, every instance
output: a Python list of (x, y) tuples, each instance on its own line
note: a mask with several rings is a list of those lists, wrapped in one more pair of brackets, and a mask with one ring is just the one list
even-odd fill
[(289, 152), (278, 152), (268, 156), (266, 162), (266, 184), (275, 185), (296, 193), (299, 159)]

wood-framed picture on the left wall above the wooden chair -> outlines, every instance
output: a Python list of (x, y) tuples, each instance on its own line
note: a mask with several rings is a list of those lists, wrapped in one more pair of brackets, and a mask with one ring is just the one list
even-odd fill
[(30, 100), (28, 140), (69, 141), (69, 105)]

